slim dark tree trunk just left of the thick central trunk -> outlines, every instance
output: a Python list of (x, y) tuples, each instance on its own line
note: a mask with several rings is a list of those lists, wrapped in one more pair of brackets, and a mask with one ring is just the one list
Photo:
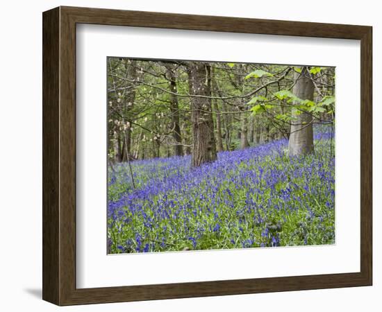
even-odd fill
[[(169, 90), (173, 93), (178, 93), (176, 87), (176, 77), (174, 69), (167, 66), (167, 75), (169, 78)], [(172, 137), (176, 142), (174, 145), (174, 153), (176, 156), (183, 156), (183, 146), (182, 146), (182, 137), (181, 137), (181, 127), (179, 122), (179, 105), (178, 105), (178, 96), (176, 94), (170, 94), (170, 110), (172, 118)]]

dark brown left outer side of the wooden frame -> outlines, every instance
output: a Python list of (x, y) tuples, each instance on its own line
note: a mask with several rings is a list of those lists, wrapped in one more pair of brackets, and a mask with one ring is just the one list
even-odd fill
[(58, 109), (59, 13), (44, 12), (42, 24), (42, 298), (58, 302)]

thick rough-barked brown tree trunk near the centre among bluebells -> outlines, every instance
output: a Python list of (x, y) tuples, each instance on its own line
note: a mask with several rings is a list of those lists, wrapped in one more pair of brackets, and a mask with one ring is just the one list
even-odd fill
[[(210, 96), (210, 68), (202, 62), (191, 62), (189, 71), (190, 94)], [(213, 136), (213, 118), (211, 99), (193, 96), (192, 110), (192, 166), (213, 162), (216, 158), (215, 137)]]

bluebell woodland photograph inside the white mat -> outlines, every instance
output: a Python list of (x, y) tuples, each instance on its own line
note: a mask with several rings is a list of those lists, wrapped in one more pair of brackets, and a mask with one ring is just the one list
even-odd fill
[(107, 59), (108, 254), (335, 243), (335, 68)]

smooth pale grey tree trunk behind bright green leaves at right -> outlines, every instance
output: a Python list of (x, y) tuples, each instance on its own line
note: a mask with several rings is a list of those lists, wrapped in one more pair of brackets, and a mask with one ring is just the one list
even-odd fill
[[(313, 101), (315, 87), (309, 78), (308, 67), (302, 68), (301, 75), (294, 73), (294, 80), (297, 80), (297, 83), (293, 87), (293, 94), (301, 100)], [(292, 115), (295, 119), (290, 127), (289, 155), (314, 153), (312, 116), (296, 109), (292, 110)]]

